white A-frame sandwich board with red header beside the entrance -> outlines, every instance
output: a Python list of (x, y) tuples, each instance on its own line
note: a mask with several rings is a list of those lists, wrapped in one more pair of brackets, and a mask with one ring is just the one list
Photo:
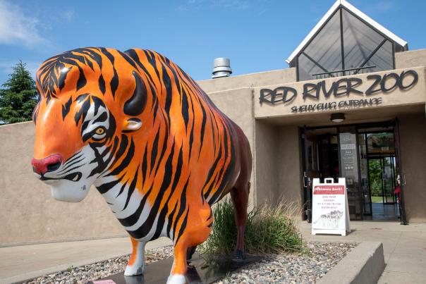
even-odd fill
[(325, 178), (324, 183), (314, 178), (312, 184), (312, 235), (346, 235), (349, 227), (348, 195), (345, 178), (333, 183)]

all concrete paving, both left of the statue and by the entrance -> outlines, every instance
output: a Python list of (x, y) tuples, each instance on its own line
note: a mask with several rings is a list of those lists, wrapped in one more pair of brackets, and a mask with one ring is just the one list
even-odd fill
[[(351, 222), (352, 233), (346, 237), (311, 235), (310, 224), (300, 223), (305, 240), (319, 242), (383, 243), (387, 266), (379, 283), (426, 283), (426, 223), (401, 226), (391, 222)], [(147, 249), (171, 245), (161, 238), (147, 243)], [(13, 283), (48, 273), (82, 266), (130, 254), (128, 237), (80, 242), (56, 242), (0, 248), (0, 283)]]

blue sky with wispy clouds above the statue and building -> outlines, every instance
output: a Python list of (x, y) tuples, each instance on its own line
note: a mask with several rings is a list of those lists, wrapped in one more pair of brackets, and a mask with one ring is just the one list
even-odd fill
[[(426, 1), (350, 0), (408, 42), (426, 48)], [(233, 75), (287, 68), (285, 59), (334, 0), (53, 1), (0, 0), (0, 84), (19, 60), (42, 61), (77, 47), (152, 49), (195, 80), (213, 58), (231, 58)]]

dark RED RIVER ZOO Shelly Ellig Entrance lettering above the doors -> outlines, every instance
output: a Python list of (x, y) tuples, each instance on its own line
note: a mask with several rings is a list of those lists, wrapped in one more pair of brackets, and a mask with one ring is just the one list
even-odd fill
[[(334, 109), (355, 109), (366, 106), (377, 106), (382, 104), (381, 97), (368, 98), (375, 94), (387, 94), (396, 89), (401, 91), (408, 90), (418, 82), (418, 73), (415, 70), (403, 70), (401, 73), (387, 73), (384, 75), (367, 75), (366, 80), (361, 78), (341, 78), (331, 82), (321, 80), (316, 83), (306, 82), (303, 84), (303, 101), (310, 99), (319, 101), (320, 99), (329, 99), (330, 97), (343, 98), (351, 95), (367, 96), (360, 99), (350, 99), (341, 101), (330, 101), (317, 104), (303, 104), (292, 106), (291, 113), (303, 113), (309, 111), (326, 111)], [(328, 84), (327, 84), (328, 83)], [(365, 84), (367, 88), (365, 89)], [(363, 85), (363, 90), (360, 86)], [(292, 104), (298, 97), (298, 89), (290, 86), (276, 87), (275, 89), (260, 89), (260, 104)]]

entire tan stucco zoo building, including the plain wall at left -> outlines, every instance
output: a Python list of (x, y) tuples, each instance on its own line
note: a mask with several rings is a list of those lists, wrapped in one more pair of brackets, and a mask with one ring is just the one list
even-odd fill
[[(198, 82), (250, 141), (250, 204), (282, 197), (309, 220), (312, 178), (344, 177), (352, 220), (425, 222), (426, 49), (341, 0), (288, 63)], [(56, 202), (32, 177), (32, 123), (0, 137), (0, 245), (126, 235), (95, 189)]]

